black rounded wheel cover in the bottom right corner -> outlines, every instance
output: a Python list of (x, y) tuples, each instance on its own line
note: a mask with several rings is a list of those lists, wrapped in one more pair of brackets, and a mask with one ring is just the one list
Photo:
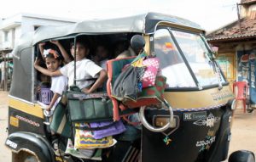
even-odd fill
[(229, 162), (255, 162), (255, 156), (251, 151), (239, 150), (230, 154)]

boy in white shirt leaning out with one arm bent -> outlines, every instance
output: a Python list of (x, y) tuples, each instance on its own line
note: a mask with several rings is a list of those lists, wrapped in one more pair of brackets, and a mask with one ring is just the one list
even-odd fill
[[(74, 45), (71, 47), (71, 53), (74, 57)], [(76, 61), (76, 78), (85, 81), (77, 81), (76, 85), (85, 93), (94, 92), (98, 87), (102, 86), (102, 83), (107, 80), (107, 71), (103, 70), (100, 66), (96, 65), (90, 59), (86, 59), (86, 56), (90, 52), (90, 49), (86, 42), (82, 39), (77, 39), (76, 45), (76, 57), (75, 60), (66, 64), (59, 70), (47, 70), (38, 65), (39, 61), (36, 59), (34, 63), (35, 69), (49, 76), (65, 75), (68, 78), (68, 86), (72, 86), (74, 83), (74, 61)], [(97, 78), (96, 81), (86, 80), (90, 78)]]

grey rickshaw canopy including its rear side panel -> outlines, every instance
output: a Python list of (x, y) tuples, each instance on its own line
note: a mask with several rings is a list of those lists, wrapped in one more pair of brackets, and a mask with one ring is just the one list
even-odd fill
[[(121, 33), (153, 34), (159, 23), (168, 23), (171, 26), (183, 27), (198, 32), (203, 32), (200, 25), (189, 20), (183, 20), (175, 16), (147, 13), (131, 17), (110, 20), (85, 20), (73, 25), (41, 26), (37, 31), (28, 32), (20, 37), (18, 44), (13, 50), (14, 56), (14, 79), (10, 94), (33, 101), (33, 46), (38, 42), (46, 42), (50, 39), (74, 38), (78, 35), (105, 35)], [(26, 78), (20, 80), (20, 78)], [(26, 92), (25, 92), (26, 90)]]

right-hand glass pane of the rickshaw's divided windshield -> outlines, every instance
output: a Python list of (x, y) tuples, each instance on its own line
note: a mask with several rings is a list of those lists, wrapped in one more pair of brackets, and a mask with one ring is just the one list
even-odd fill
[[(175, 30), (172, 30), (172, 34), (200, 85), (204, 87), (218, 84), (218, 75), (213, 70), (213, 63), (209, 58), (210, 53), (201, 36), (195, 33)], [(224, 83), (222, 75), (220, 79)]]

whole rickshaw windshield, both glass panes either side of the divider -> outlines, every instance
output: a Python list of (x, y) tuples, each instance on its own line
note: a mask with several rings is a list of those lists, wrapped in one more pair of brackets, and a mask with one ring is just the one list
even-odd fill
[[(167, 87), (196, 87), (196, 80), (201, 87), (218, 84), (221, 74), (213, 70), (210, 52), (200, 34), (158, 29), (154, 33), (154, 52), (160, 59), (162, 75), (167, 77)], [(224, 83), (222, 75), (220, 79)]]

